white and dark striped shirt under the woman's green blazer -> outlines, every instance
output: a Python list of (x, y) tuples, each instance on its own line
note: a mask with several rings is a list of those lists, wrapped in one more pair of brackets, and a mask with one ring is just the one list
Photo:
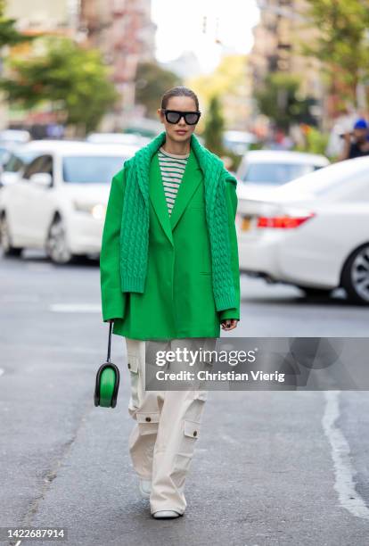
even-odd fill
[(184, 175), (184, 169), (189, 155), (190, 153), (186, 153), (185, 155), (168, 153), (163, 150), (162, 146), (158, 151), (161, 179), (163, 181), (169, 216), (172, 213), (176, 201), (176, 194)]

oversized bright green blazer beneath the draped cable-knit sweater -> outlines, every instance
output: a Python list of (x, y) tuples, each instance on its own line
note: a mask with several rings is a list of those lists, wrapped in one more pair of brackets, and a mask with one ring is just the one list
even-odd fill
[(219, 337), (220, 321), (240, 318), (240, 274), (234, 226), (237, 195), (226, 182), (235, 309), (217, 311), (212, 292), (211, 256), (205, 216), (203, 173), (191, 148), (171, 216), (165, 199), (158, 153), (149, 178), (150, 231), (143, 294), (122, 293), (119, 234), (126, 176), (112, 178), (102, 231), (100, 277), (102, 319), (114, 318), (113, 333), (133, 339)]

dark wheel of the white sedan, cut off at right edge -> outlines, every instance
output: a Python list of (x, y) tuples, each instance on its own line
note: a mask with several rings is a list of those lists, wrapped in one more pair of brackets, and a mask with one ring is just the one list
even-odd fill
[(369, 244), (358, 248), (342, 269), (341, 285), (352, 302), (369, 305)]

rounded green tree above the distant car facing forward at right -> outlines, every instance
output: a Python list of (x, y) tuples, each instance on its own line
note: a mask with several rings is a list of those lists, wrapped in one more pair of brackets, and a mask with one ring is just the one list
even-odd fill
[(284, 131), (296, 123), (314, 122), (309, 113), (310, 100), (299, 99), (299, 79), (296, 76), (282, 72), (268, 74), (255, 98), (259, 111)]

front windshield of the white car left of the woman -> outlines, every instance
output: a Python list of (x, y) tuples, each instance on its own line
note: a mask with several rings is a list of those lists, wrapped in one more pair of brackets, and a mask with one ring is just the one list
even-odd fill
[(121, 155), (70, 155), (63, 157), (62, 176), (70, 184), (108, 184), (123, 167)]

